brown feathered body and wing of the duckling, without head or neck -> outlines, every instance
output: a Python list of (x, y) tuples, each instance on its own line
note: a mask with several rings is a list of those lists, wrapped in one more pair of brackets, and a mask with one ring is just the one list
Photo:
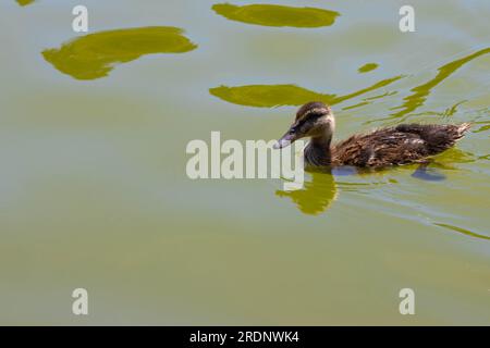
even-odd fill
[(387, 166), (420, 162), (452, 147), (468, 125), (403, 124), (354, 135), (335, 145), (336, 165)]

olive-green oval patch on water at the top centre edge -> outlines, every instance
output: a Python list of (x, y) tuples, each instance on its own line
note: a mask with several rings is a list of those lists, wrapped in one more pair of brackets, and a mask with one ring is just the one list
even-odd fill
[(218, 3), (212, 7), (216, 13), (231, 21), (265, 26), (291, 26), (315, 28), (330, 26), (339, 12), (316, 8), (292, 8), (277, 4), (234, 5)]

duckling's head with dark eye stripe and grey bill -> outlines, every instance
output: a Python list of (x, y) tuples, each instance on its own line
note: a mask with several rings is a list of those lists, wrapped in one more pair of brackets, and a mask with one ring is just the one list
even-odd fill
[(335, 119), (330, 107), (319, 101), (308, 102), (299, 108), (294, 123), (278, 140), (274, 149), (282, 149), (305, 137), (330, 140), (334, 128)]

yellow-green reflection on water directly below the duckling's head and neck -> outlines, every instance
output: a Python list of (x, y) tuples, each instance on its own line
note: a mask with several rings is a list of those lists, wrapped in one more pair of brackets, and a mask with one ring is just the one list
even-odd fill
[(290, 197), (305, 214), (319, 214), (330, 208), (336, 198), (336, 186), (330, 172), (311, 172), (311, 181), (305, 182), (304, 189), (277, 190), (279, 197)]

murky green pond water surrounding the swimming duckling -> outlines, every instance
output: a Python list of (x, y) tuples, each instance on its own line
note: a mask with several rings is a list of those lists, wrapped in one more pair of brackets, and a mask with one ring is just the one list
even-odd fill
[[(85, 0), (87, 34), (77, 4), (0, 4), (1, 324), (490, 324), (488, 1), (411, 1), (415, 33), (405, 1)], [(186, 176), (310, 100), (336, 139), (473, 127), (425, 175)]]

